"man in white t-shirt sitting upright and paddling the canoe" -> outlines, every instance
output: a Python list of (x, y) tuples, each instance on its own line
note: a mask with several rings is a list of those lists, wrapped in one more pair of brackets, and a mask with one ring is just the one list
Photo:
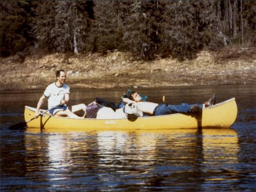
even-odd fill
[(58, 70), (56, 72), (56, 79), (57, 81), (52, 84), (49, 84), (44, 94), (40, 97), (35, 111), (35, 118), (37, 118), (40, 115), (39, 109), (47, 99), (48, 109), (51, 109), (54, 106), (60, 104), (49, 111), (51, 115), (80, 118), (79, 116), (72, 113), (67, 106), (70, 91), (69, 86), (65, 84), (66, 73), (63, 70)]

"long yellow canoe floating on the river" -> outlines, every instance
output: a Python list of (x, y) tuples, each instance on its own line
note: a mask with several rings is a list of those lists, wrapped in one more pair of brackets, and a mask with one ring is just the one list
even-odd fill
[[(73, 119), (44, 114), (27, 123), (28, 127), (40, 129), (72, 130), (156, 130), (156, 129), (193, 129), (198, 127), (230, 127), (237, 118), (235, 98), (210, 106), (202, 114), (171, 114), (162, 116), (139, 117), (135, 121), (127, 119)], [(25, 121), (34, 117), (35, 108), (25, 106)]]

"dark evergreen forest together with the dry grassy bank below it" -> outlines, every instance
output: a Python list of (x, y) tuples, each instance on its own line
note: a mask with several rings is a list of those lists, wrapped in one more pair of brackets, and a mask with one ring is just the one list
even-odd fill
[(1, 90), (255, 83), (256, 1), (1, 1)]

